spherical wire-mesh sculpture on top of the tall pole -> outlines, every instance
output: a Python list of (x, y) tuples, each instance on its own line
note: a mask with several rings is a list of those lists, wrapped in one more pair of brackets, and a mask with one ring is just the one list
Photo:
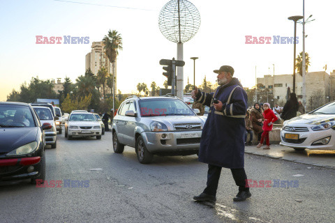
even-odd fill
[(200, 22), (200, 13), (193, 3), (187, 0), (171, 0), (159, 13), (158, 25), (168, 40), (185, 43), (198, 32)]

